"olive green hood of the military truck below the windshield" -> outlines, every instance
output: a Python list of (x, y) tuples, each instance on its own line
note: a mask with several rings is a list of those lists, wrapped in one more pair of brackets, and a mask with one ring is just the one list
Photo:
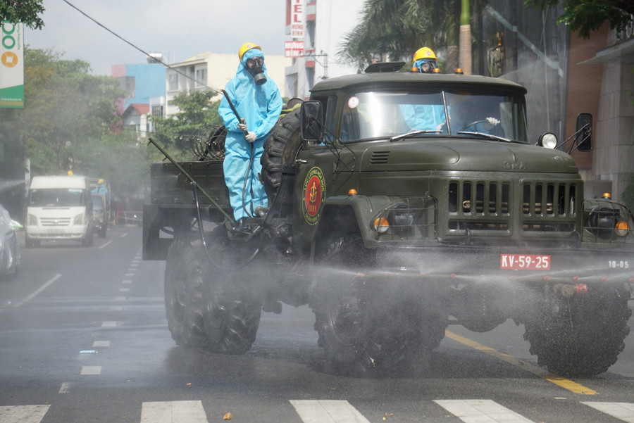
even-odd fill
[(363, 144), (354, 148), (360, 172), (478, 170), (483, 172), (576, 173), (576, 163), (562, 151), (506, 141), (427, 140)]

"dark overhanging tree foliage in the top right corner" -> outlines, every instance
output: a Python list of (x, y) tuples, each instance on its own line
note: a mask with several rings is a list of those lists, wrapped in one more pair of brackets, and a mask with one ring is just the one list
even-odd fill
[(578, 32), (585, 39), (606, 22), (611, 30), (625, 30), (634, 14), (631, 0), (526, 0), (524, 4), (540, 9), (561, 5), (564, 13), (557, 18), (557, 23), (563, 23), (570, 32)]

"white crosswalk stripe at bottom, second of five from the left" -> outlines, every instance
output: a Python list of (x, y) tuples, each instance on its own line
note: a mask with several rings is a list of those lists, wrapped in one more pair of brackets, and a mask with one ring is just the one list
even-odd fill
[(140, 423), (209, 423), (202, 401), (160, 401), (141, 405)]

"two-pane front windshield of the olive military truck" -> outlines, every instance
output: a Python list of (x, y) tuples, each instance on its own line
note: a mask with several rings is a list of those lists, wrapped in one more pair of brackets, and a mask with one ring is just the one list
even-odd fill
[(479, 132), (528, 142), (524, 99), (516, 94), (363, 91), (346, 98), (340, 124), (342, 141), (394, 137), (416, 130), (457, 137)]

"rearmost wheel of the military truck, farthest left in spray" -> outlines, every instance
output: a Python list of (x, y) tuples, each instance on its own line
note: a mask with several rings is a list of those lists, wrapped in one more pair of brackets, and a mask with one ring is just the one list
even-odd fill
[(177, 239), (165, 265), (165, 310), (172, 338), (185, 348), (205, 348), (201, 261), (189, 242)]

